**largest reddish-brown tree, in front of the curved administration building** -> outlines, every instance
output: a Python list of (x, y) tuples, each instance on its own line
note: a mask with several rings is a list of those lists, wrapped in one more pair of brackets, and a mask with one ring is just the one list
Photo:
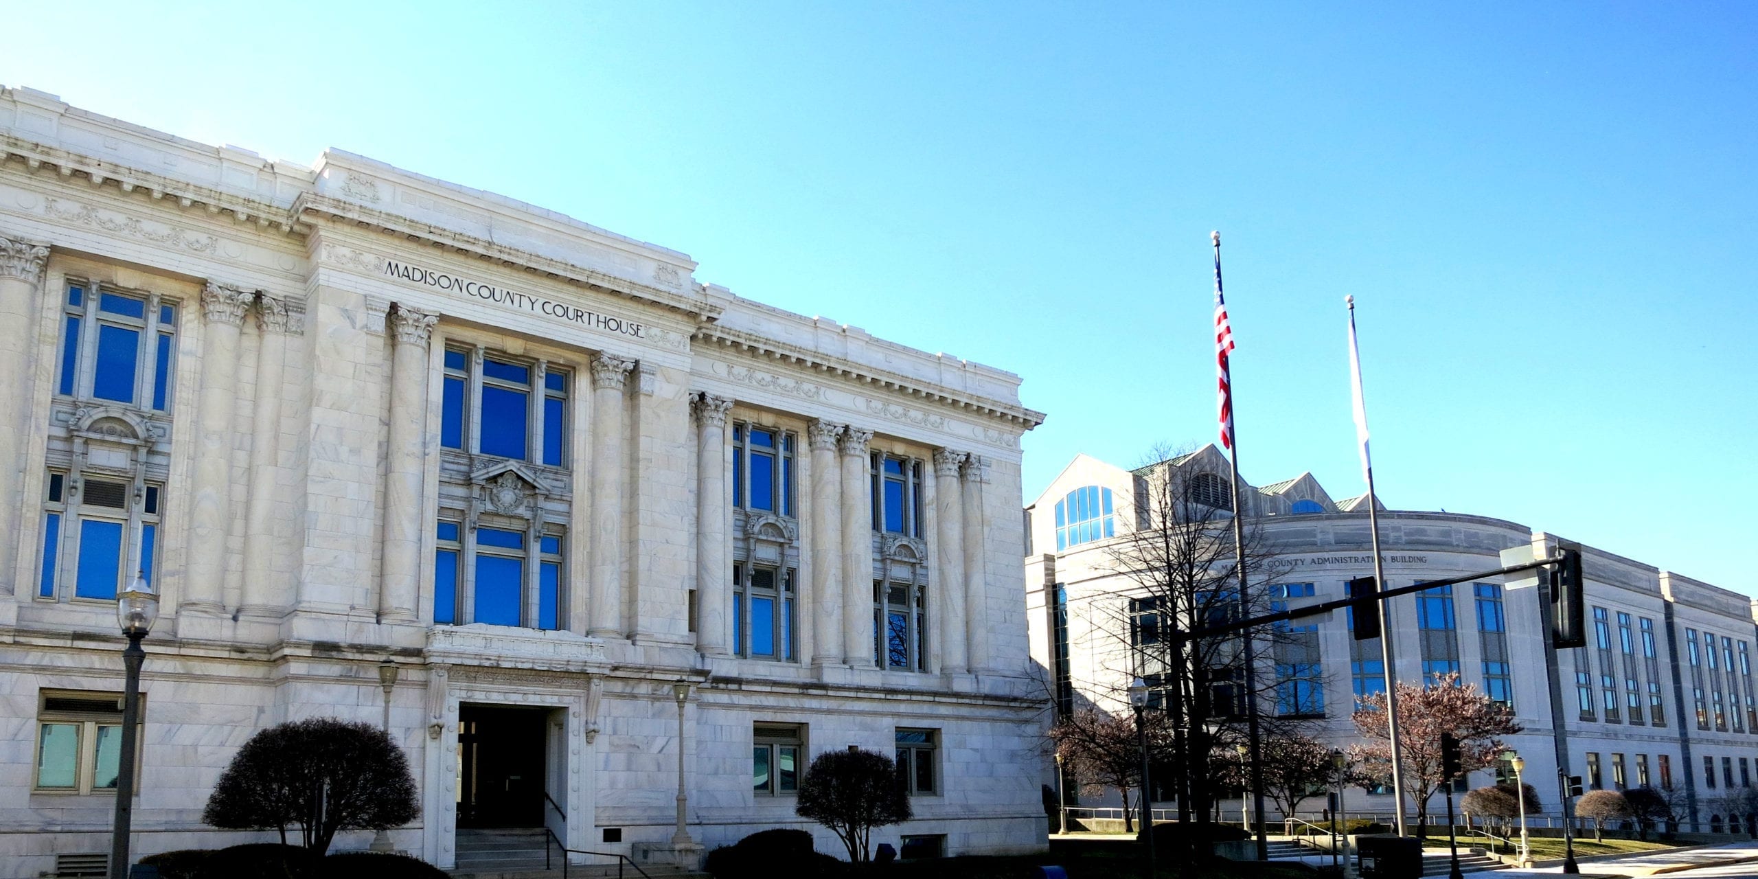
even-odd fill
[[(1355, 710), (1355, 731), (1369, 740), (1350, 745), (1350, 758), (1366, 779), (1389, 784), (1392, 747), (1385, 730), (1385, 693), (1366, 696)], [(1417, 833), (1426, 835), (1429, 796), (1447, 781), (1442, 775), (1440, 733), (1459, 738), (1461, 770), (1489, 768), (1508, 747), (1501, 737), (1522, 730), (1514, 710), (1478, 693), (1477, 684), (1459, 684), (1459, 673), (1436, 675), (1427, 686), (1398, 684), (1399, 751), (1405, 793), (1417, 803)]]

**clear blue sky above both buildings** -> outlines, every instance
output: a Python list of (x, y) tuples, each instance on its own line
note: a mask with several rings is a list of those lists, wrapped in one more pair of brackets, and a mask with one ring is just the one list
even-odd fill
[(1027, 496), (1213, 438), (1218, 229), (1246, 478), (1362, 490), (1354, 294), (1391, 506), (1758, 591), (1758, 5), (146, 5), (9, 16), (0, 83), (1016, 371)]

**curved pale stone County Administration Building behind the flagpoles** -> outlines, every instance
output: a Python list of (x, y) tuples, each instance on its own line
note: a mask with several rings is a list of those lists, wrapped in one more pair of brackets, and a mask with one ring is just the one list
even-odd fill
[[(1220, 520), (1231, 515), (1227, 459), (1215, 447), (1157, 468), (1176, 471), (1174, 483), (1220, 510)], [(1032, 652), (1064, 710), (1086, 703), (1120, 710), (1122, 687), (1144, 672), (1130, 643), (1159, 631), (1157, 608), (1115, 573), (1111, 547), (1136, 527), (1136, 485), (1150, 471), (1078, 455), (1027, 508)], [(1364, 496), (1331, 498), (1310, 473), (1248, 483), (1243, 494), (1248, 527), (1273, 556), (1269, 594), (1260, 596), (1273, 607), (1345, 598), (1348, 580), (1373, 575)], [(1503, 548), (1554, 547), (1556, 540), (1482, 515), (1380, 513), (1380, 554), (1392, 587), (1493, 571), (1503, 566)], [(1536, 589), (1508, 589), (1500, 577), (1392, 599), (1396, 677), (1419, 682), (1457, 672), (1512, 705), (1524, 731), (1508, 744), (1526, 759), (1524, 781), (1547, 812), (1559, 807), (1554, 742), (1561, 719), (1568, 770), (1589, 789), (1672, 789), (1693, 816), (1686, 830), (1726, 830), (1728, 816), (1747, 809), (1730, 796), (1749, 795), (1758, 775), (1753, 599), (1595, 547), (1582, 547), (1582, 571), (1587, 647), (1559, 650), (1558, 705), (1545, 680)], [(1343, 612), (1306, 617), (1259, 654), (1259, 680), (1271, 687), (1259, 705), (1266, 716), (1306, 721), (1311, 735), (1347, 745), (1357, 742), (1355, 698), (1384, 689), (1382, 670), (1380, 642), (1354, 640)], [(1044, 772), (1046, 781), (1055, 777), (1053, 768)], [(1473, 772), (1464, 788), (1498, 781), (1512, 781), (1507, 765)], [(1102, 803), (1115, 805), (1115, 798), (1108, 793)], [(1392, 812), (1389, 793), (1350, 788), (1347, 800), (1354, 812)], [(1303, 803), (1311, 812), (1324, 807), (1324, 796)], [(1429, 809), (1445, 814), (1440, 795)], [(1238, 819), (1238, 798), (1222, 814)]]

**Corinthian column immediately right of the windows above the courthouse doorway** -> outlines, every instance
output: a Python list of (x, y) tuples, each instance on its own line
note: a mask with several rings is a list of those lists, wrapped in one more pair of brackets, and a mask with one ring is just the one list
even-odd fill
[(622, 385), (629, 360), (592, 359), (592, 589), (587, 635), (622, 635)]

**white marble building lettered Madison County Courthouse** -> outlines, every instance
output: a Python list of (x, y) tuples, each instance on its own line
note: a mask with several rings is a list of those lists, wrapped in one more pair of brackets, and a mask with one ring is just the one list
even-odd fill
[[(341, 151), (267, 162), (0, 90), (0, 875), (109, 849), (113, 596), (146, 640), (134, 851), (250, 735), (381, 723), (459, 826), (640, 853), (802, 826), (1042, 846), (1020, 378), (740, 299), (684, 253)], [(677, 735), (673, 682), (687, 680)], [(364, 847), (350, 833), (338, 847)], [(918, 839), (919, 837), (919, 839)]]

